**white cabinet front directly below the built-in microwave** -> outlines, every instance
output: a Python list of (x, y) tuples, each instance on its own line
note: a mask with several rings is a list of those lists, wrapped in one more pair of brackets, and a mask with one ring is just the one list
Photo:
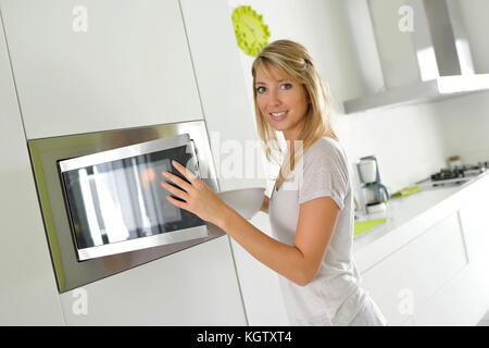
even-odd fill
[(227, 237), (60, 295), (67, 325), (244, 325)]

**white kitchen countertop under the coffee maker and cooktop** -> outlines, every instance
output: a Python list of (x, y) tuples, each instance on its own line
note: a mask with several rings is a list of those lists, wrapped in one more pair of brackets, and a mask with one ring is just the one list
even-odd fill
[(469, 203), (480, 189), (489, 187), (487, 174), (482, 173), (461, 186), (427, 188), (412, 196), (391, 199), (386, 223), (354, 239), (353, 252), (359, 271), (364, 273)]

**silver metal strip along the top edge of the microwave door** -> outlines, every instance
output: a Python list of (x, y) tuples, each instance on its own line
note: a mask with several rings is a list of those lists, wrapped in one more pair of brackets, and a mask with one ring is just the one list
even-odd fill
[(105, 162), (127, 159), (130, 157), (150, 153), (154, 151), (166, 150), (179, 146), (186, 146), (190, 142), (188, 134), (181, 134), (175, 137), (163, 138), (158, 140), (146, 141), (141, 144), (130, 145), (123, 148), (102, 151), (93, 154), (77, 157), (70, 160), (60, 161), (60, 170), (62, 173), (77, 170), (90, 165), (97, 165)]

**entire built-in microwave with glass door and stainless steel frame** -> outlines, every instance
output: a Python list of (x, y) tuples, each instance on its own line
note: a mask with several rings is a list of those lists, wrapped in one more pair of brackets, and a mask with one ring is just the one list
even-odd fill
[(183, 177), (171, 165), (177, 160), (218, 190), (203, 121), (28, 147), (60, 293), (224, 235), (172, 206), (161, 186), (163, 171)]

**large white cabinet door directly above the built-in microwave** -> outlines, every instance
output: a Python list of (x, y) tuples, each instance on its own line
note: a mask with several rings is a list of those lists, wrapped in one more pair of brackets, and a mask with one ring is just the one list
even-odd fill
[(177, 0), (0, 0), (29, 139), (201, 120)]

